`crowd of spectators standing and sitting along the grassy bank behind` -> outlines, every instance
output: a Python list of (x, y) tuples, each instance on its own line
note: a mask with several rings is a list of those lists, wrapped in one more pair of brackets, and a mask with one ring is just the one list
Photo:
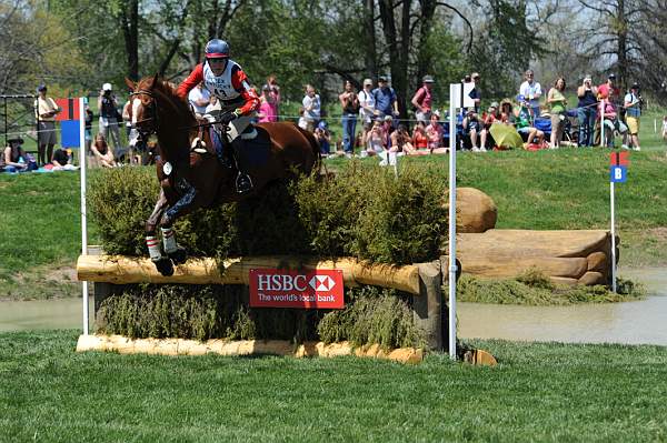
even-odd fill
[[(338, 94), (341, 125), (338, 137), (334, 137), (326, 120), (322, 99), (312, 84), (307, 84), (297, 124), (315, 134), (323, 155), (377, 155), (382, 164), (390, 163), (397, 155), (446, 153), (452, 145), (471, 152), (511, 148), (557, 149), (563, 145), (591, 148), (604, 144), (613, 148), (616, 135), (623, 138), (621, 148), (640, 150), (639, 127), (644, 99), (639, 84), (633, 83), (628, 91), (621, 93), (614, 73), (601, 84), (595, 84), (591, 75), (584, 75), (576, 88), (577, 102), (568, 103), (564, 77), (557, 78), (550, 88), (544, 90), (535, 72), (527, 70), (514, 99), (507, 98), (500, 103), (492, 101), (485, 109), (481, 107), (479, 73), (467, 74), (461, 80), (467, 105), (456, 115), (454, 142), (450, 141), (447, 112), (435, 109), (435, 81), (432, 75), (424, 75), (421, 85), (409, 100), (410, 118), (401, 120), (398, 97), (387, 77), (379, 75), (377, 84), (370, 78), (365, 79), (359, 91), (352, 81), (346, 80)], [(54, 170), (72, 169), (71, 151), (53, 151), (58, 142), (56, 115), (61, 109), (47, 95), (44, 84), (40, 84), (37, 92), (37, 159), (22, 150), (22, 139), (7, 138), (0, 167), (8, 171), (44, 165)], [(281, 92), (275, 75), (270, 75), (257, 92), (260, 105), (256, 122), (276, 122), (285, 118), (279, 110)], [(208, 107), (215, 105), (216, 97), (203, 84), (199, 84), (189, 92), (188, 101), (196, 114), (203, 115)], [(99, 115), (94, 138), (94, 115), (88, 104), (84, 110), (86, 147), (90, 163), (103, 168), (146, 163), (150, 152), (132, 152), (122, 143), (123, 139), (132, 137), (130, 97), (121, 101), (111, 83), (104, 83), (97, 104)], [(123, 137), (121, 127), (125, 127)], [(520, 141), (517, 137), (510, 137), (515, 131)], [(661, 131), (667, 140), (667, 117)]]

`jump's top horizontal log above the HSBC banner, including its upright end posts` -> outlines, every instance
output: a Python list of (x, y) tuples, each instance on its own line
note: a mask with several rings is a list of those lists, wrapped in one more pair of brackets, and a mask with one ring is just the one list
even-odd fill
[(442, 350), (447, 343), (442, 325), (441, 285), (447, 273), (441, 272), (440, 261), (431, 263), (389, 265), (367, 263), (352, 258), (318, 260), (293, 256), (247, 256), (223, 262), (220, 272), (215, 259), (190, 259), (175, 266), (171, 276), (161, 275), (147, 258), (123, 255), (81, 255), (77, 262), (77, 278), (94, 282), (96, 312), (101, 301), (117, 292), (116, 285), (136, 283), (170, 284), (249, 284), (251, 269), (340, 270), (347, 288), (369, 284), (396, 289), (412, 295), (415, 323), (426, 336), (427, 345)]

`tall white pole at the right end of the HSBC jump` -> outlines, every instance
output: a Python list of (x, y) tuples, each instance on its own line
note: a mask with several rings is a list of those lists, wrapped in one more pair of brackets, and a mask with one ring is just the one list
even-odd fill
[[(457, 84), (449, 85), (449, 358), (456, 360), (456, 103)], [(458, 85), (462, 90), (462, 85)], [(461, 107), (462, 99), (461, 99)]]

